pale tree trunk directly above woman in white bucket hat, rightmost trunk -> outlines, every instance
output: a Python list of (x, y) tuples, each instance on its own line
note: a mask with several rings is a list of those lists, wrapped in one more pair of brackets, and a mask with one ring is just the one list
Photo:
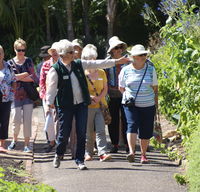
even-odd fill
[(106, 19), (108, 23), (107, 39), (110, 39), (110, 37), (113, 36), (116, 6), (117, 6), (116, 0), (107, 0), (107, 15), (106, 15)]

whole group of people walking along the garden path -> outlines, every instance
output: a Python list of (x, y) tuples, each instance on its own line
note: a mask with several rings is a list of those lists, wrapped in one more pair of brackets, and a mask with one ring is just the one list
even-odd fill
[[(4, 52), (0, 47), (0, 151), (6, 151), (10, 106), (13, 141), (8, 150), (13, 150), (17, 144), (22, 118), (24, 151), (32, 150), (29, 140), (33, 101), (28, 98), (23, 82), (35, 82), (39, 83), (46, 120), (45, 132), (49, 140), (46, 152), (56, 146), (55, 168), (60, 166), (69, 140), (72, 158), (80, 170), (87, 169), (84, 162), (93, 159), (95, 144), (100, 161), (112, 158), (107, 150), (102, 105), (108, 106), (112, 117), (108, 125), (110, 153), (118, 152), (122, 135), (128, 153), (126, 158), (134, 162), (139, 137), (141, 163), (147, 163), (146, 151), (153, 135), (158, 104), (157, 76), (154, 65), (147, 59), (149, 51), (143, 45), (133, 46), (130, 52), (126, 49), (127, 44), (114, 36), (109, 40), (108, 57), (99, 60), (94, 45), (87, 44), (83, 48), (78, 39), (72, 42), (63, 39), (41, 49), (44, 59), (36, 75), (32, 60), (25, 57), (24, 40), (15, 41), (16, 56), (7, 62), (3, 60)], [(7, 109), (4, 116), (3, 106)]]

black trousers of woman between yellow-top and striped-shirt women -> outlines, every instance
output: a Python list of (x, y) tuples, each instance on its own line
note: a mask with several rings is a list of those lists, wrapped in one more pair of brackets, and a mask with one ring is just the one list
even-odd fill
[(108, 125), (108, 131), (113, 145), (118, 145), (119, 143), (119, 130), (120, 130), (120, 120), (121, 120), (121, 134), (123, 136), (124, 144), (127, 144), (126, 130), (127, 122), (124, 113), (124, 109), (121, 104), (122, 98), (112, 98), (110, 97), (109, 110), (112, 117), (112, 122)]

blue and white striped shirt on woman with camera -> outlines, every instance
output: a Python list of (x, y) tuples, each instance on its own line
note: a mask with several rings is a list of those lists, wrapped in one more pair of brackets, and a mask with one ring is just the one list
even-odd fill
[[(144, 68), (137, 70), (132, 64), (124, 67), (119, 74), (119, 87), (125, 88), (122, 98), (122, 104), (129, 98), (135, 98), (140, 81), (145, 72), (147, 63)], [(150, 107), (155, 105), (155, 94), (152, 86), (158, 85), (157, 75), (154, 66), (148, 65), (146, 74), (135, 100), (137, 107)]]

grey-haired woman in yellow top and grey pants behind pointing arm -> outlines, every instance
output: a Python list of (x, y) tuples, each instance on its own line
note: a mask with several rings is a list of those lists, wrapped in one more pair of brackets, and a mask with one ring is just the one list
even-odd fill
[[(83, 48), (82, 59), (96, 60), (97, 48), (88, 44)], [(88, 121), (86, 134), (85, 160), (92, 160), (94, 148), (94, 133), (100, 161), (111, 159), (107, 154), (107, 142), (105, 134), (105, 121), (100, 109), (100, 102), (107, 106), (105, 95), (107, 94), (107, 78), (103, 69), (88, 69), (85, 71), (88, 89), (92, 103), (88, 106)]]

